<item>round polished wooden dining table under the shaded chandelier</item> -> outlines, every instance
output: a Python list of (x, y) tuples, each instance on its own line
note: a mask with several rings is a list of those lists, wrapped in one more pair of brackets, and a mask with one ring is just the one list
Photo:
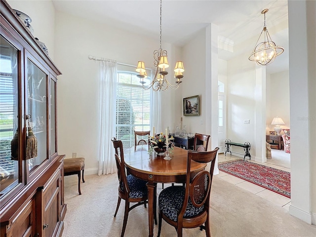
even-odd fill
[[(148, 226), (149, 237), (154, 236), (154, 208), (157, 203), (157, 183), (185, 183), (188, 151), (174, 147), (166, 160), (154, 152), (148, 154), (148, 145), (139, 145), (124, 149), (127, 172), (148, 181)], [(191, 161), (191, 176), (206, 167), (205, 163)]]

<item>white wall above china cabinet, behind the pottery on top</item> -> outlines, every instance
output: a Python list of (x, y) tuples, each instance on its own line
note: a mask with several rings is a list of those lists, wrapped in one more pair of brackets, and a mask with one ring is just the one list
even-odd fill
[(7, 0), (7, 2), (13, 9), (22, 11), (32, 19), (33, 36), (45, 43), (49, 57), (54, 59), (55, 8), (52, 1), (30, 3), (25, 0)]

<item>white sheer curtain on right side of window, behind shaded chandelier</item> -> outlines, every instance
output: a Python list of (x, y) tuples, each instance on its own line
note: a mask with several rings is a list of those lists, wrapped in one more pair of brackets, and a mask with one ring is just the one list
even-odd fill
[[(151, 78), (155, 76), (155, 70), (151, 70)], [(162, 132), (161, 130), (161, 95), (159, 91), (150, 92), (150, 127), (151, 134), (153, 134), (153, 126), (155, 127), (155, 133)]]

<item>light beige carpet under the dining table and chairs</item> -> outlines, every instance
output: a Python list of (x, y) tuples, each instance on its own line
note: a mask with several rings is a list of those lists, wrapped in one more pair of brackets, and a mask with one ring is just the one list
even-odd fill
[[(119, 237), (124, 202), (114, 218), (118, 200), (118, 177), (87, 175), (78, 195), (76, 175), (65, 177), (65, 203), (62, 237)], [(211, 190), (212, 237), (316, 237), (316, 226), (289, 215), (272, 202), (214, 176)], [(166, 185), (165, 185), (166, 186)], [(161, 184), (158, 184), (158, 192)], [(158, 225), (154, 226), (157, 236)], [(184, 237), (205, 237), (198, 228), (184, 230)], [(175, 237), (173, 227), (162, 221), (161, 237)], [(125, 237), (148, 237), (148, 212), (138, 206), (129, 213)]]

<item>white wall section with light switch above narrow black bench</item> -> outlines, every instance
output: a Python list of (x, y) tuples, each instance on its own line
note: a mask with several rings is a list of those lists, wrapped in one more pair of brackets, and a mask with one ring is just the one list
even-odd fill
[[(254, 157), (255, 64), (248, 60), (248, 55), (242, 55), (229, 60), (227, 68), (227, 139), (237, 143), (250, 142), (250, 154)], [(250, 124), (244, 124), (245, 119), (250, 119)], [(244, 154), (240, 147), (234, 146), (232, 151)]]

